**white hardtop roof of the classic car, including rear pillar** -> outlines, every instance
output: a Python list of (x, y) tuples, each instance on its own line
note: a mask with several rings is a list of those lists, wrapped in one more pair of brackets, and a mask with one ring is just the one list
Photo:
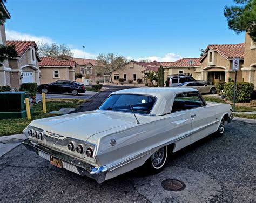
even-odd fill
[(183, 88), (183, 87), (141, 87), (119, 90), (112, 92), (112, 94), (140, 94), (147, 96), (157, 97), (156, 104), (154, 105), (150, 114), (161, 115), (170, 113), (171, 106), (176, 94), (185, 92), (198, 92), (197, 89)]

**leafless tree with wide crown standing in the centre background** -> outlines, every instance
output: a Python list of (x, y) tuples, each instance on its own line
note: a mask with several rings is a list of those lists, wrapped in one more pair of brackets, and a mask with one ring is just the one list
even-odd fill
[(110, 75), (111, 83), (113, 82), (112, 73), (127, 62), (127, 59), (124, 56), (115, 53), (100, 53), (97, 56), (97, 59), (99, 60), (99, 63), (104, 66), (105, 72)]

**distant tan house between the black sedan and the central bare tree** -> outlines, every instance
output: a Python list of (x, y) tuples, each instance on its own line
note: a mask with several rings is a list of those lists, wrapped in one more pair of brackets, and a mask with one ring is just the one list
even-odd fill
[(96, 76), (104, 75), (104, 67), (99, 63), (98, 60), (94, 59), (83, 59), (70, 57), (71, 60), (76, 62), (76, 73), (81, 73), (82, 75)]

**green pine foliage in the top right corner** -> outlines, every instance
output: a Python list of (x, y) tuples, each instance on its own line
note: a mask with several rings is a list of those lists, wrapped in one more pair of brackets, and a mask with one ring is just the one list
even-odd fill
[(224, 9), (228, 28), (238, 34), (246, 31), (256, 42), (256, 0), (234, 0), (234, 2), (238, 5), (225, 6)]

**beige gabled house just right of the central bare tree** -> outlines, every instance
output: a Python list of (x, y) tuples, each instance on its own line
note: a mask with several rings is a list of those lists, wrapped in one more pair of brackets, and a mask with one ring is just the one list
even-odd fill
[(112, 79), (114, 83), (118, 83), (119, 78), (123, 78), (125, 83), (127, 83), (128, 80), (132, 80), (133, 83), (137, 83), (137, 79), (142, 79), (145, 72), (157, 72), (159, 67), (160, 62), (157, 61), (137, 62), (136, 60), (131, 60), (114, 71), (112, 73)]

